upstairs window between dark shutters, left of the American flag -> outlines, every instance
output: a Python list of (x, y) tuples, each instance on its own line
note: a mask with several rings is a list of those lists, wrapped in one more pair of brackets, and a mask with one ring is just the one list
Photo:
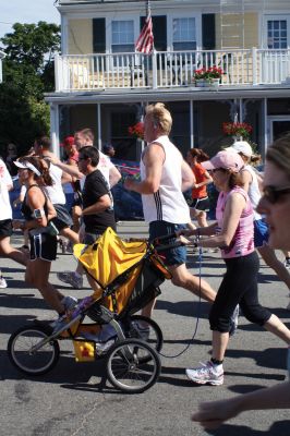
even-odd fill
[(112, 45), (113, 53), (134, 52), (134, 22), (112, 21)]

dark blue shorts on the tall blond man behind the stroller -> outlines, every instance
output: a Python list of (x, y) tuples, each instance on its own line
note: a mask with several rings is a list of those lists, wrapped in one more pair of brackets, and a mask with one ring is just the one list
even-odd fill
[[(182, 229), (186, 229), (186, 225), (174, 225), (167, 221), (152, 221), (149, 223), (149, 239), (153, 240), (158, 237), (171, 234)], [(174, 239), (171, 239), (166, 241), (165, 244), (174, 243)], [(159, 252), (158, 254), (165, 257), (165, 264), (168, 266), (182, 265), (186, 262), (185, 246), (178, 246), (174, 249), (166, 250), (165, 252)]]

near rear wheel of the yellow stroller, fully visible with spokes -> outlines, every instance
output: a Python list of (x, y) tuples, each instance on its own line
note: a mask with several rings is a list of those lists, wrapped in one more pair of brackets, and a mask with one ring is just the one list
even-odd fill
[[(149, 356), (148, 362), (143, 361), (144, 354)], [(123, 392), (144, 392), (156, 383), (160, 371), (161, 363), (157, 352), (140, 339), (117, 342), (108, 351), (108, 378)]]

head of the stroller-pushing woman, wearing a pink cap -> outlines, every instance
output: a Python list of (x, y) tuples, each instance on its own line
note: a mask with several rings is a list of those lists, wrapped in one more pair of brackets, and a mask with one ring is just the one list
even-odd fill
[(210, 171), (213, 181), (218, 191), (230, 191), (233, 186), (242, 185), (240, 170), (244, 161), (238, 153), (222, 150), (210, 160), (202, 162)]

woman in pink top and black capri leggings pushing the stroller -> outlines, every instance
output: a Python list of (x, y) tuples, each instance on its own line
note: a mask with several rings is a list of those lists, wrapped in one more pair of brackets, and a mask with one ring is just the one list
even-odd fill
[(253, 208), (241, 187), (242, 158), (230, 152), (219, 152), (204, 167), (213, 172), (219, 191), (217, 222), (183, 234), (205, 235), (195, 246), (219, 247), (226, 263), (226, 274), (209, 313), (213, 330), (213, 354), (201, 367), (186, 370), (188, 377), (197, 384), (222, 385), (223, 356), (229, 341), (231, 316), (239, 304), (243, 315), (290, 343), (290, 330), (280, 319), (258, 303), (258, 256), (254, 250)]

